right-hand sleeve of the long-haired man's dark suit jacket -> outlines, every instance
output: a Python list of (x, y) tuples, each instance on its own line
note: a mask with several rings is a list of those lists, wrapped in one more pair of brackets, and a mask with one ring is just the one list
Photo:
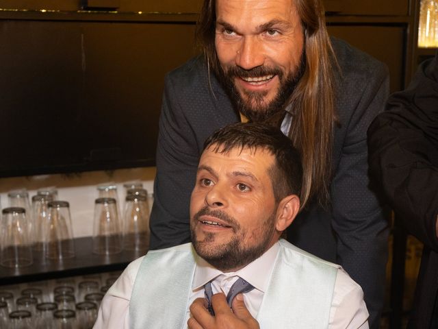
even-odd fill
[[(352, 61), (354, 62), (354, 61)], [(357, 65), (347, 62), (350, 65)], [(367, 130), (383, 112), (389, 95), (389, 74), (384, 64), (344, 74), (350, 97), (339, 103), (343, 138), (337, 138), (337, 167), (331, 184), (332, 227), (337, 236), (337, 260), (361, 284), (370, 312), (370, 328), (378, 328), (383, 308), (388, 222), (368, 175)], [(343, 110), (345, 104), (353, 111)]]

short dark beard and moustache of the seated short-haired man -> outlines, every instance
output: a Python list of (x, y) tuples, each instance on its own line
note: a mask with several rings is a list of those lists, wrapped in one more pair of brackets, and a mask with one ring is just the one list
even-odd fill
[[(200, 225), (199, 217), (203, 215), (211, 215), (221, 219), (226, 225), (231, 226), (234, 233), (231, 240), (221, 245), (211, 245), (216, 239), (216, 234), (204, 232), (204, 240), (198, 241), (195, 228), (196, 225)], [(275, 231), (274, 217), (275, 212), (272, 212), (272, 215), (259, 228), (260, 236), (253, 236), (252, 241), (257, 241), (257, 244), (245, 245), (244, 239), (246, 234), (253, 234), (252, 232), (240, 232), (240, 225), (233, 217), (230, 217), (221, 210), (209, 210), (205, 206), (190, 221), (190, 232), (194, 249), (199, 256), (210, 265), (216, 267), (216, 269), (220, 269), (220, 271), (240, 269), (259, 258), (268, 249)]]

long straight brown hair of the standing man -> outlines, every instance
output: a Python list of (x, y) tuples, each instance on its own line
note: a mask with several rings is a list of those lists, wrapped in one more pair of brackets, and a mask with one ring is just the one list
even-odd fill
[[(301, 208), (315, 199), (322, 206), (330, 200), (332, 146), (337, 61), (326, 30), (321, 0), (294, 1), (305, 34), (305, 71), (289, 98), (292, 125), (289, 138), (302, 158)], [(196, 36), (210, 71), (218, 73), (215, 48), (216, 0), (205, 0)]]

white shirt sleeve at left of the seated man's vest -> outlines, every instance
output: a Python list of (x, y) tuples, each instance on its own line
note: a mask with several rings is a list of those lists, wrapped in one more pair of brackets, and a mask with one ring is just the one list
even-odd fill
[(129, 301), (143, 257), (123, 271), (103, 297), (93, 329), (129, 329)]

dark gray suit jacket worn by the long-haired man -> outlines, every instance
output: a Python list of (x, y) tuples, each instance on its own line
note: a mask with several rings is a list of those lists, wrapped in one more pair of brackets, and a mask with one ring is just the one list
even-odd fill
[[(287, 236), (301, 249), (346, 269), (365, 293), (370, 326), (378, 328), (388, 230), (369, 186), (366, 131), (383, 110), (389, 77), (381, 62), (341, 40), (332, 41), (342, 75), (337, 77), (335, 97), (340, 124), (335, 127), (331, 209), (311, 204), (295, 219)], [(203, 143), (214, 130), (239, 120), (214, 75), (208, 76), (202, 58), (194, 58), (166, 76), (151, 249), (190, 241), (190, 193)]]

